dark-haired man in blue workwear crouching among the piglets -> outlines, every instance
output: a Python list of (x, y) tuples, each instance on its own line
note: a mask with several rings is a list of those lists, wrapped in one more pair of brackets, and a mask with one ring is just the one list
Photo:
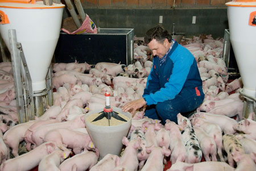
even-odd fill
[(177, 123), (179, 112), (191, 112), (204, 100), (202, 80), (193, 55), (161, 26), (146, 32), (144, 41), (154, 59), (147, 78), (143, 98), (123, 106), (123, 111), (135, 110), (147, 105), (145, 116), (166, 119)]

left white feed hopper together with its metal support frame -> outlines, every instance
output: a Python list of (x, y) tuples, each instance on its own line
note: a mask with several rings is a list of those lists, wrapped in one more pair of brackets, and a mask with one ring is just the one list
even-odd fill
[(0, 0), (0, 32), (11, 53), (20, 123), (42, 115), (43, 104), (52, 105), (49, 66), (64, 7), (35, 0)]

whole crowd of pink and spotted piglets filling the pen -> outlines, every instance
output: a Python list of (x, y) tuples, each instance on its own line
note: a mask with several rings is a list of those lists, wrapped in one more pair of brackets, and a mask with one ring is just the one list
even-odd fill
[[(220, 58), (222, 41), (208, 35), (181, 42), (195, 56), (203, 80), (205, 100), (195, 114), (190, 118), (178, 114), (178, 124), (166, 120), (163, 126), (160, 120), (145, 117), (145, 109), (137, 111), (129, 135), (122, 139), (126, 148), (121, 156), (109, 154), (100, 161), (85, 128), (86, 112), (103, 109), (106, 92), (114, 107), (141, 98), (152, 68), (150, 49), (134, 44), (135, 62), (128, 66), (99, 62), (92, 68), (76, 61), (54, 64), (53, 106), (35, 120), (16, 126), (2, 119), (1, 126), (6, 129), (0, 127), (4, 132), (0, 170), (36, 166), (39, 170), (163, 170), (167, 160), (172, 163), (168, 170), (256, 170), (254, 114), (241, 120), (242, 99), (239, 93), (229, 95), (241, 88), (242, 82), (239, 78), (227, 83), (227, 68)], [(7, 73), (0, 78), (7, 80), (10, 75), (8, 81), (13, 83), (13, 76)], [(13, 86), (3, 93), (1, 104), (14, 110), (10, 109), (15, 107)], [(28, 152), (19, 156), (23, 141)]]

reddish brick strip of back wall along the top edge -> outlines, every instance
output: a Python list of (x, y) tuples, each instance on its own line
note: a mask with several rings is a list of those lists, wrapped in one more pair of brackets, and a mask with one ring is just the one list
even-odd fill
[(85, 9), (220, 8), (232, 0), (81, 0)]

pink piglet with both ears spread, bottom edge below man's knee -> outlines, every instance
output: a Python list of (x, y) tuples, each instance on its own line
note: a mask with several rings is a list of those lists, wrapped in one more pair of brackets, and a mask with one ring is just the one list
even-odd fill
[(164, 156), (168, 157), (171, 155), (170, 149), (166, 147), (154, 147), (154, 145), (147, 147), (147, 152), (150, 153), (150, 156), (148, 157), (146, 164), (141, 169), (142, 171), (163, 170)]

